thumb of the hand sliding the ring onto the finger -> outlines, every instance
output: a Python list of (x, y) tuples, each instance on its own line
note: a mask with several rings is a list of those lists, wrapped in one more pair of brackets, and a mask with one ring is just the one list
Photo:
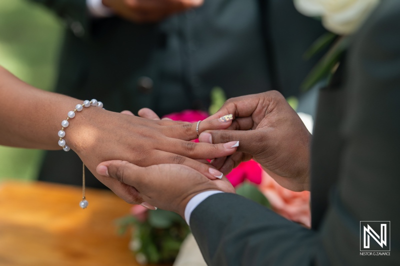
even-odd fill
[(212, 144), (238, 141), (237, 151), (254, 155), (257, 143), (262, 139), (258, 135), (254, 130), (207, 130), (199, 135), (198, 140)]

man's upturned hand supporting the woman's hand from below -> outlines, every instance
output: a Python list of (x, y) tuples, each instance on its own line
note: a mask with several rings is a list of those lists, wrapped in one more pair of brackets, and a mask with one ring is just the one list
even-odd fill
[[(235, 193), (225, 177), (211, 181), (189, 167), (176, 164), (139, 167), (126, 161), (114, 160), (100, 163), (96, 171), (101, 176), (134, 187), (145, 202), (182, 217), (188, 201), (201, 192), (219, 190)], [(114, 192), (117, 196), (125, 193)]]

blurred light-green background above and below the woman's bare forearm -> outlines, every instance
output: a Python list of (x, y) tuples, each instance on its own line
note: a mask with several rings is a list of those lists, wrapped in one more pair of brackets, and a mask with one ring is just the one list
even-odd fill
[[(62, 27), (50, 11), (26, 0), (0, 0), (0, 65), (51, 90)], [(34, 179), (42, 152), (0, 146), (0, 180)]]

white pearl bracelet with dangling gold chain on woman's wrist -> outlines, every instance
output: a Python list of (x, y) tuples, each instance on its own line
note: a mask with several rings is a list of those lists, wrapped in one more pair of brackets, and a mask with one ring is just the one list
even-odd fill
[[(103, 107), (103, 103), (102, 102), (98, 102), (96, 99), (92, 99), (91, 101), (85, 100), (85, 101), (83, 101), (82, 104), (77, 104), (75, 106), (75, 110), (68, 112), (68, 117), (66, 118), (66, 120), (63, 120), (61, 122), (62, 128), (61, 128), (60, 131), (58, 131), (58, 137), (59, 137), (58, 145), (61, 146), (62, 149), (64, 151), (66, 151), (66, 152), (69, 151), (70, 148), (69, 148), (68, 145), (66, 145), (65, 140), (62, 139), (63, 137), (65, 137), (64, 129), (66, 127), (68, 127), (68, 125), (69, 125), (68, 120), (75, 117), (75, 112), (76, 111), (78, 111), (78, 112), (82, 111), (83, 110), (83, 106), (86, 107), (86, 108), (90, 107), (90, 106), (96, 106), (96, 107), (102, 108)], [(86, 197), (85, 197), (84, 164), (83, 164), (82, 172), (83, 172), (82, 173), (82, 200), (79, 202), (79, 206), (80, 206), (80, 208), (85, 209), (87, 207), (87, 205), (88, 205), (88, 202), (86, 201)]]

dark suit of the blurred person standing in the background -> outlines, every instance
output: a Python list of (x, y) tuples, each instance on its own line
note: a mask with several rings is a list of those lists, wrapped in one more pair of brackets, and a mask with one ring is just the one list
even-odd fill
[[(271, 88), (297, 95), (317, 59), (302, 54), (324, 32), (291, 0), (205, 0), (155, 24), (92, 18), (85, 0), (34, 1), (66, 25), (56, 91), (117, 112), (207, 110), (215, 86), (228, 98)], [(68, 165), (62, 173), (61, 164)], [(41, 180), (81, 183), (72, 152), (47, 152), (43, 165)], [(87, 174), (88, 186), (101, 187)]]

